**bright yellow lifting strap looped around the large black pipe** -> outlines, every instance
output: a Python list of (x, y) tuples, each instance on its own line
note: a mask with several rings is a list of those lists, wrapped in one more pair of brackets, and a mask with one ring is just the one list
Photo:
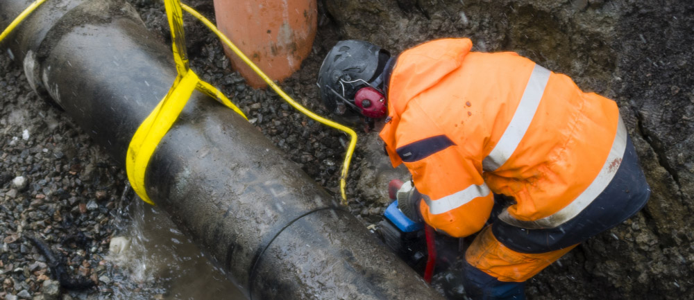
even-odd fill
[(135, 193), (144, 202), (152, 205), (154, 205), (154, 202), (147, 195), (144, 184), (144, 175), (149, 165), (149, 160), (159, 142), (176, 122), (178, 115), (183, 111), (183, 107), (185, 107), (195, 89), (208, 94), (208, 96), (217, 98), (221, 103), (246, 118), (241, 109), (231, 103), (226, 96), (208, 82), (200, 80), (195, 72), (189, 68), (185, 52), (183, 11), (180, 8), (180, 2), (178, 0), (164, 0), (164, 6), (166, 7), (169, 26), (171, 27), (172, 48), (174, 50), (174, 61), (176, 62), (178, 76), (176, 76), (174, 85), (169, 89), (167, 96), (160, 101), (157, 107), (137, 128), (133, 139), (130, 140), (126, 154), (126, 173), (128, 173), (130, 185), (133, 186)]

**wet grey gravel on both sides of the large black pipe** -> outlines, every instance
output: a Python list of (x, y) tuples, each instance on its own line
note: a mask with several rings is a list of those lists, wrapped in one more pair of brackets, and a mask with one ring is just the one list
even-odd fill
[[(150, 30), (168, 41), (163, 6), (158, 1), (130, 2)], [(212, 1), (189, 5), (214, 15)], [(314, 82), (321, 58), (337, 37), (325, 19), (321, 23), (312, 55), (282, 88), (325, 115)], [(185, 26), (196, 73), (230, 96), (257, 130), (337, 199), (348, 136), (299, 114), (269, 89), (246, 86), (207, 28), (192, 17), (186, 17)], [(348, 180), (349, 209), (371, 224), (380, 220), (384, 207), (355, 188), (361, 160), (357, 150)], [(22, 67), (1, 53), (0, 299), (164, 299), (165, 279), (134, 281), (105, 259), (110, 238), (128, 222), (128, 215), (119, 212), (134, 201), (130, 193), (124, 195), (126, 183), (121, 166), (60, 108), (40, 99)], [(62, 273), (52, 274), (56, 269)], [(58, 277), (64, 285), (71, 281), (79, 286), (61, 287)]]

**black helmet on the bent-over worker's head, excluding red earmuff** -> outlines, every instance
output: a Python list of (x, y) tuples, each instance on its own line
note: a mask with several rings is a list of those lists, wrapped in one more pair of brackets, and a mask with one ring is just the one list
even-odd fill
[(345, 117), (361, 114), (362, 105), (355, 105), (355, 94), (364, 87), (382, 94), (380, 75), (389, 58), (388, 51), (355, 39), (332, 47), (318, 73), (321, 99), (328, 112)]

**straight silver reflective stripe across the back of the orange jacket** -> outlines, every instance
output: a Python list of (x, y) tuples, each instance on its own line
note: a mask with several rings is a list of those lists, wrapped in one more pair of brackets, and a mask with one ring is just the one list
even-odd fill
[(482, 160), (483, 170), (489, 172), (498, 169), (516, 151), (518, 143), (521, 143), (521, 139), (523, 139), (527, 127), (530, 126), (530, 122), (535, 116), (538, 105), (540, 105), (540, 99), (550, 79), (550, 73), (550, 70), (535, 64), (511, 122), (494, 149)]

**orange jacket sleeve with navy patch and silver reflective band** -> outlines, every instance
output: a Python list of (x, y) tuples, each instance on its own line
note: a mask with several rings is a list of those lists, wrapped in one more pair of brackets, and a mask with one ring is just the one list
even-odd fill
[[(432, 227), (450, 236), (469, 236), (484, 227), (494, 204), (482, 179), (481, 161), (464, 157), (446, 134), (426, 118), (400, 124), (396, 152), (423, 195), (420, 212)], [(413, 137), (414, 136), (414, 137)], [(403, 145), (404, 144), (404, 145)]]

